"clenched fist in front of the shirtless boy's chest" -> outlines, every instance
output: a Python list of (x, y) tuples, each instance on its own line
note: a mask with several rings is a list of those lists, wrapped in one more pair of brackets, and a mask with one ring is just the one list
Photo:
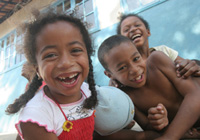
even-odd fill
[(148, 119), (152, 127), (156, 130), (162, 130), (169, 123), (167, 118), (167, 110), (161, 103), (159, 103), (156, 107), (149, 109)]

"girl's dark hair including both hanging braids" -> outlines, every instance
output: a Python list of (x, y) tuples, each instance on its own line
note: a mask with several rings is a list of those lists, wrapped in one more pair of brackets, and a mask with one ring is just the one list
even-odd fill
[[(83, 41), (85, 43), (87, 53), (88, 53), (90, 70), (87, 77), (87, 81), (89, 84), (89, 89), (92, 94), (89, 98), (85, 100), (83, 106), (85, 108), (91, 109), (95, 107), (97, 104), (97, 92), (95, 89), (92, 60), (90, 58), (90, 56), (93, 53), (93, 48), (92, 48), (92, 42), (91, 42), (89, 33), (80, 19), (75, 18), (73, 16), (66, 15), (66, 14), (56, 14), (50, 11), (36, 17), (36, 19), (33, 22), (30, 22), (26, 25), (25, 41), (23, 45), (25, 56), (28, 62), (30, 62), (33, 65), (37, 65), (37, 60), (36, 60), (36, 55), (35, 55), (36, 54), (36, 37), (46, 25), (55, 23), (57, 21), (66, 21), (66, 22), (71, 23), (73, 26), (78, 28), (80, 30), (80, 33), (82, 34)], [(33, 98), (33, 96), (35, 95), (35, 92), (39, 89), (41, 85), (42, 85), (42, 80), (38, 80), (37, 75), (35, 75), (34, 79), (31, 81), (29, 89), (24, 94), (22, 94), (18, 99), (16, 99), (13, 104), (10, 104), (6, 109), (6, 112), (9, 114), (18, 112), (23, 106), (26, 105), (26, 103), (31, 98)]]

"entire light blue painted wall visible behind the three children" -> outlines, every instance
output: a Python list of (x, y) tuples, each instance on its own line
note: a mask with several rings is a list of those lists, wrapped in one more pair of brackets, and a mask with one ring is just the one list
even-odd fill
[[(161, 44), (170, 46), (179, 52), (179, 56), (200, 59), (200, 0), (168, 0), (145, 10), (142, 15), (150, 24), (150, 46)], [(97, 5), (98, 8), (98, 5)], [(92, 34), (97, 53), (100, 43), (116, 33), (116, 24)], [(93, 59), (95, 80), (98, 85), (107, 85), (97, 55)], [(27, 80), (21, 76), (21, 66), (0, 74), (0, 133), (14, 132), (17, 115), (7, 116), (7, 105), (23, 93)]]

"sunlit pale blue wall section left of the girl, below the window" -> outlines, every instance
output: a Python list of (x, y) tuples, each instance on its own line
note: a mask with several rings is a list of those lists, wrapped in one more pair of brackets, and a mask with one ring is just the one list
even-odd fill
[(0, 133), (15, 132), (17, 115), (6, 115), (5, 109), (25, 90), (27, 80), (21, 76), (21, 68), (0, 75)]

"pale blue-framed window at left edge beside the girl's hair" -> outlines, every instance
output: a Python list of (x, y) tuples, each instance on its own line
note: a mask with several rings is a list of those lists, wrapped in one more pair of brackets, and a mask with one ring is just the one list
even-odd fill
[(25, 60), (23, 54), (16, 54), (16, 42), (20, 40), (16, 31), (0, 40), (0, 72), (8, 71)]

